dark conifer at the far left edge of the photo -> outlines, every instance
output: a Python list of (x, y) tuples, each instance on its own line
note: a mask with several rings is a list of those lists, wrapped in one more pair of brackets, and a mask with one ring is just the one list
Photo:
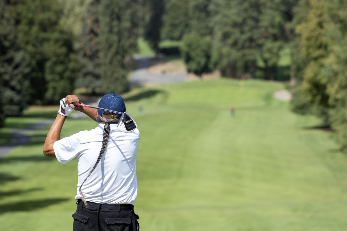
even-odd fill
[(23, 77), (27, 64), (17, 44), (15, 19), (8, 2), (0, 0), (0, 127), (5, 116), (19, 116), (27, 107), (28, 81)]

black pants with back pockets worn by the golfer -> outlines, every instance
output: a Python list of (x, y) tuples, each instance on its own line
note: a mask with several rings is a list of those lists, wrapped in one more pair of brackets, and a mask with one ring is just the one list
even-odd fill
[(130, 204), (96, 204), (77, 202), (74, 231), (138, 231), (140, 226), (134, 206)]

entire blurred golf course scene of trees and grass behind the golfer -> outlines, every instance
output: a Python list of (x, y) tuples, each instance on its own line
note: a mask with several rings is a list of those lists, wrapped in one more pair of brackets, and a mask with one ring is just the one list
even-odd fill
[(346, 230), (346, 73), (345, 0), (0, 0), (1, 230), (72, 229), (76, 162), (42, 145), (109, 92), (141, 230)]

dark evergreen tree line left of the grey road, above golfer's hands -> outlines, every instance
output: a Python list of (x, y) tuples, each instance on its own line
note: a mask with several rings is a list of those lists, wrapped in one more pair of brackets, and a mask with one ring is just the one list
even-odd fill
[(57, 103), (76, 85), (126, 91), (139, 2), (73, 1), (84, 10), (74, 33), (65, 21), (69, 1), (0, 0), (0, 126), (28, 104)]

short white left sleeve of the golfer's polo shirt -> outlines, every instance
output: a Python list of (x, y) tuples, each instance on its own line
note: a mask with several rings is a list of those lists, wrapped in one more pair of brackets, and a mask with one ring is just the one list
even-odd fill
[(54, 142), (53, 150), (60, 163), (67, 163), (77, 156), (79, 152), (80, 137), (81, 134), (76, 133)]

